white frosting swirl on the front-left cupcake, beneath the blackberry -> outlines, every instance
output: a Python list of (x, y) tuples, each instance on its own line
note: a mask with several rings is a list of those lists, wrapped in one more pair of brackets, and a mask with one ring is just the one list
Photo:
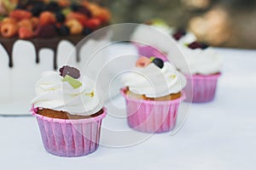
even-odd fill
[[(55, 71), (45, 71), (36, 83), (35, 108), (67, 111), (72, 115), (87, 116), (102, 109), (102, 101), (96, 94), (96, 85), (89, 77), (80, 77), (82, 86), (73, 88), (69, 82), (62, 82)], [(97, 90), (98, 91), (98, 90)]]

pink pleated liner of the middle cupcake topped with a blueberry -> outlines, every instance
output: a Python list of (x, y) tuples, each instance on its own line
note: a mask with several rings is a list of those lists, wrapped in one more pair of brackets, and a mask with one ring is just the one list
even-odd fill
[(178, 106), (185, 94), (179, 99), (154, 101), (131, 99), (126, 95), (127, 88), (121, 89), (125, 97), (128, 125), (143, 133), (166, 133), (176, 124)]

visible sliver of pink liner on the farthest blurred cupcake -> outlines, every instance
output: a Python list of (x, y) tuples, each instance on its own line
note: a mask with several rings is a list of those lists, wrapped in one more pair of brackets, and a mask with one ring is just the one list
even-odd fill
[(168, 61), (166, 54), (160, 52), (157, 48), (148, 46), (148, 45), (141, 45), (138, 43), (134, 43), (134, 45), (137, 47), (137, 51), (139, 55), (142, 55), (144, 57), (157, 57), (159, 59), (162, 59), (163, 61)]

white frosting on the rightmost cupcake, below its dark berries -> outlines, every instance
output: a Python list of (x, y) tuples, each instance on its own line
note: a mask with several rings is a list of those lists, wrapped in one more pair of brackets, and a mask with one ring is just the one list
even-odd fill
[(185, 65), (184, 62), (181, 62), (181, 59), (177, 59), (172, 53), (168, 54), (168, 56), (172, 59), (172, 62), (177, 69), (183, 73), (191, 75), (211, 75), (221, 71), (223, 60), (213, 48), (191, 49), (184, 45), (179, 45), (178, 47), (183, 53), (184, 59), (188, 65)]

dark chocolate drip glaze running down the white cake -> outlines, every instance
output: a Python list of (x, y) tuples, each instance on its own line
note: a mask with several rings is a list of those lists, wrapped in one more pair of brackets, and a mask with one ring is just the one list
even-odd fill
[[(56, 70), (58, 68), (57, 65), (57, 48), (59, 46), (59, 43), (62, 40), (67, 40), (68, 42), (73, 43), (74, 46), (76, 46), (77, 50), (77, 61), (79, 62), (80, 60), (80, 49), (82, 47), (83, 43), (79, 43), (82, 39), (84, 38), (83, 35), (78, 35), (78, 36), (67, 36), (67, 37), (53, 37), (53, 38), (39, 38), (35, 37), (32, 39), (24, 40), (28, 42), (32, 42), (32, 44), (35, 47), (36, 50), (36, 63), (38, 64), (40, 62), (39, 59), (39, 51), (42, 48), (50, 48), (54, 51), (54, 63), (53, 63), (53, 68)], [(17, 40), (20, 40), (18, 37), (14, 38), (4, 38), (0, 37), (0, 42), (3, 46), (3, 48), (6, 50), (8, 56), (9, 56), (9, 67), (13, 67), (13, 48), (14, 44)], [(79, 44), (79, 45), (78, 45)]]

